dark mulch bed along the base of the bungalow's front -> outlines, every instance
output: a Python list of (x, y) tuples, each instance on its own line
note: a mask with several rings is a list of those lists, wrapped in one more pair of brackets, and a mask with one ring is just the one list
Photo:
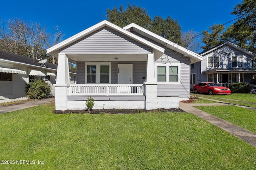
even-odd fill
[[(99, 113), (113, 113), (113, 114), (120, 114), (120, 113), (145, 113), (149, 111), (183, 111), (182, 109), (153, 109), (153, 110), (146, 110), (146, 109), (92, 109), (91, 114), (99, 114)], [(67, 114), (67, 113), (88, 113), (88, 110), (53, 110), (52, 113), (56, 114)]]

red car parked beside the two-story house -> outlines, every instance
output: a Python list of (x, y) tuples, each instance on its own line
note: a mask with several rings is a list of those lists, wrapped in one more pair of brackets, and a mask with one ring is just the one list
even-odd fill
[(193, 86), (194, 93), (208, 93), (212, 94), (231, 94), (229, 88), (220, 86), (214, 82), (200, 82)]

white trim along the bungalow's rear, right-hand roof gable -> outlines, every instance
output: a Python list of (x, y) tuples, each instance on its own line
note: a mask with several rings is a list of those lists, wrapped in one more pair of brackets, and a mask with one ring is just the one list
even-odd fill
[(169, 41), (168, 39), (165, 39), (165, 38), (151, 32), (151, 31), (148, 31), (147, 29), (145, 29), (145, 28), (143, 28), (143, 27), (141, 27), (141, 26), (139, 26), (135, 23), (131, 23), (131, 24), (123, 27), (123, 29), (125, 29), (127, 31), (130, 31), (130, 28), (132, 28), (132, 27), (134, 27), (134, 28), (136, 28), (136, 29), (138, 29), (138, 30), (140, 30), (140, 31), (158, 39), (159, 41), (162, 41), (163, 45), (165, 45), (166, 47), (168, 47), (168, 48), (170, 48), (174, 51), (177, 51), (178, 53), (182, 54), (184, 57), (196, 58), (196, 59), (201, 60), (201, 61), (203, 60), (203, 57), (201, 55), (196, 54), (193, 51), (190, 51), (190, 50), (188, 50), (188, 49), (186, 49), (186, 48), (184, 48), (184, 47), (182, 47), (182, 46), (180, 46), (180, 45), (178, 45), (178, 44), (176, 44), (172, 41)]

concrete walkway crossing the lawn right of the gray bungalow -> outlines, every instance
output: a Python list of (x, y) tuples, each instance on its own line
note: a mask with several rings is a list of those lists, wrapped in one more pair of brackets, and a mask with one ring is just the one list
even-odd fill
[[(215, 101), (217, 101), (217, 100), (215, 100)], [(194, 107), (194, 106), (230, 105), (229, 103), (226, 103), (226, 102), (225, 103), (222, 101), (218, 101), (218, 102), (219, 103), (211, 103), (211, 104), (185, 104), (185, 103), (180, 102), (179, 107), (180, 107), (180, 109), (182, 109), (186, 112), (189, 112), (189, 113), (193, 113), (194, 115), (212, 123), (213, 125), (220, 127), (221, 129), (227, 131), (228, 133), (231, 133), (232, 135), (234, 135), (234, 136), (242, 139), (243, 141), (249, 143), (250, 145), (256, 147), (256, 133), (253, 133), (251, 131), (243, 129), (240, 126), (234, 125), (228, 121), (220, 119), (219, 117), (216, 117), (214, 115), (211, 115), (209, 113), (206, 113), (205, 111), (202, 111), (202, 110)]]

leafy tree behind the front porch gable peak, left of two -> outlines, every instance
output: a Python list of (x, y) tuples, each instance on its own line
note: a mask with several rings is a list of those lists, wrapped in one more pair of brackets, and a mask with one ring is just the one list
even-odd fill
[(148, 28), (151, 18), (146, 10), (135, 4), (130, 6), (130, 4), (127, 3), (127, 5), (126, 9), (124, 9), (122, 5), (120, 5), (119, 10), (116, 7), (112, 8), (112, 10), (107, 9), (107, 20), (120, 27), (124, 27), (130, 23), (136, 23), (141, 27)]

